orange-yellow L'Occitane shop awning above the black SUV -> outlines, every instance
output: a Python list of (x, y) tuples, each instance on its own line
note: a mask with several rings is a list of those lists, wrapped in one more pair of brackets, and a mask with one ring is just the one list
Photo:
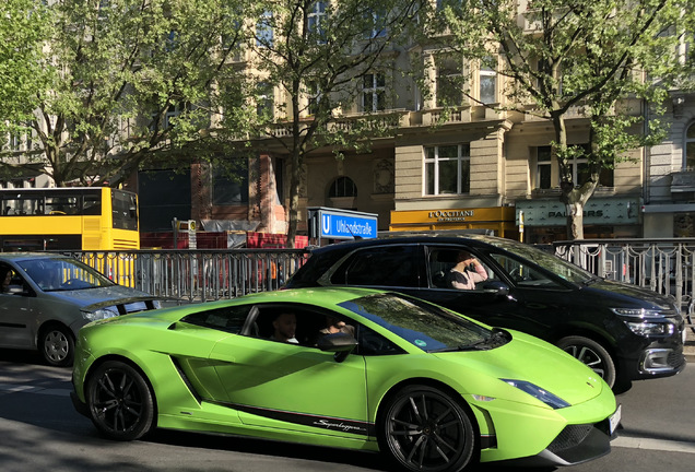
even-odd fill
[(518, 239), (514, 206), (391, 211), (391, 232), (481, 229)]

